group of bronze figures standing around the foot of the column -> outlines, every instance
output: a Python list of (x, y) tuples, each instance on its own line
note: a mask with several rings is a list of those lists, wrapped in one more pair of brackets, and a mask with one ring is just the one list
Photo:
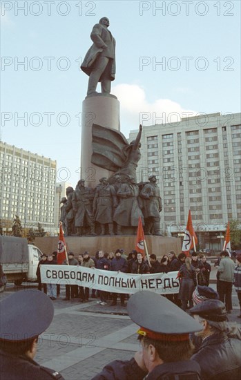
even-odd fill
[[(123, 179), (124, 178), (124, 179)], [(95, 189), (79, 180), (62, 198), (61, 222), (66, 236), (135, 234), (139, 216), (146, 234), (161, 235), (162, 198), (155, 175), (137, 184), (133, 175), (100, 178)]]

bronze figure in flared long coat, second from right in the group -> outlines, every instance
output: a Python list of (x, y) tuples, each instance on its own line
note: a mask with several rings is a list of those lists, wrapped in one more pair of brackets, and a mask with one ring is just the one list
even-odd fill
[(117, 191), (119, 205), (117, 206), (113, 220), (117, 223), (117, 235), (122, 234), (122, 226), (137, 227), (139, 216), (144, 218), (142, 210), (139, 208), (137, 197), (139, 187), (135, 183), (135, 178), (131, 175), (126, 176), (126, 183), (122, 183)]

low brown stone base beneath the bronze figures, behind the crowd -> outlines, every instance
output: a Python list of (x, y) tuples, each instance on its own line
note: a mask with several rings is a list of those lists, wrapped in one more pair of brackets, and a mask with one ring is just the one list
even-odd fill
[[(67, 251), (73, 251), (75, 257), (88, 251), (90, 256), (95, 256), (95, 252), (102, 249), (105, 252), (115, 252), (118, 248), (123, 248), (128, 255), (135, 249), (136, 236), (119, 235), (119, 236), (67, 236), (65, 238)], [(59, 237), (50, 236), (36, 238), (35, 245), (43, 254), (51, 254), (57, 251)], [(167, 236), (146, 236), (146, 245), (148, 254), (155, 254), (157, 258), (162, 257), (169, 251), (175, 251), (180, 254), (182, 251), (181, 239)]]

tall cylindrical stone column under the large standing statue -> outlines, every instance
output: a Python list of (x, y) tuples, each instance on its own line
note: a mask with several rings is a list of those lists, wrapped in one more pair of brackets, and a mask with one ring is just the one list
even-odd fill
[(91, 163), (93, 124), (119, 131), (119, 100), (116, 97), (94, 95), (86, 97), (82, 105), (81, 178), (86, 181), (85, 186), (91, 188), (97, 186), (99, 178), (108, 178), (113, 173)]

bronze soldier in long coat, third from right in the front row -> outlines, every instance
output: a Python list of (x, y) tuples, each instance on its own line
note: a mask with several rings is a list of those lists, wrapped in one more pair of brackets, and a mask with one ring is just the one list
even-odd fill
[(113, 208), (117, 207), (117, 197), (115, 187), (108, 184), (107, 178), (99, 180), (100, 185), (95, 189), (95, 198), (93, 202), (93, 213), (95, 220), (101, 226), (101, 235), (105, 234), (105, 225), (108, 224), (109, 235), (113, 232)]

